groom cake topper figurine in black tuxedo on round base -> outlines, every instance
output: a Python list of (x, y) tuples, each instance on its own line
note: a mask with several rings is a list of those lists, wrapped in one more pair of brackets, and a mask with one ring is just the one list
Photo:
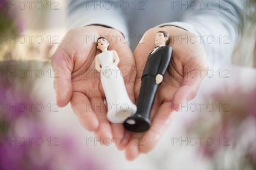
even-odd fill
[(141, 78), (140, 94), (137, 101), (137, 112), (123, 123), (125, 129), (133, 132), (145, 132), (150, 128), (149, 119), (157, 89), (163, 81), (171, 57), (170, 36), (166, 31), (158, 31), (155, 37), (157, 45), (148, 55)]

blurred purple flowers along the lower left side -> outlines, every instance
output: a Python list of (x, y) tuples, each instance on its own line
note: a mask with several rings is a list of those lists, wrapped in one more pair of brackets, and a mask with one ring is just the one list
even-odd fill
[[(38, 62), (36, 62), (38, 64)], [(1, 69), (35, 68), (30, 62), (1, 62)], [(41, 67), (42, 68), (42, 67)], [(2, 71), (2, 70), (1, 70)], [(44, 116), (33, 108), (22, 111), (20, 103), (44, 103), (31, 92), (35, 79), (9, 77), (0, 81), (0, 169), (102, 169), (103, 165), (88, 150), (80, 152), (79, 138), (73, 134), (49, 127)], [(3, 103), (14, 106), (2, 108)], [(17, 105), (15, 105), (17, 104)], [(38, 139), (38, 140), (36, 140)], [(31, 141), (30, 141), (31, 140)], [(26, 142), (24, 142), (26, 141)]]

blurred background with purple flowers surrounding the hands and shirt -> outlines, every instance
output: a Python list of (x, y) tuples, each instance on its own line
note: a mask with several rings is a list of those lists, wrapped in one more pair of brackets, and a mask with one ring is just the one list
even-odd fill
[(67, 31), (66, 6), (0, 0), (1, 169), (256, 169), (255, 1), (247, 1), (233, 65), (207, 76), (157, 147), (132, 162), (55, 103), (50, 58)]

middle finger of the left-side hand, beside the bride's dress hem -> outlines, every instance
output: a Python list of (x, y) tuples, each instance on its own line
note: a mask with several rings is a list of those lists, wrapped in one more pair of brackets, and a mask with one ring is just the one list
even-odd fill
[(99, 97), (93, 97), (90, 99), (90, 103), (93, 105), (93, 111), (99, 121), (99, 126), (95, 131), (96, 138), (101, 140), (103, 144), (108, 144), (107, 139), (112, 139), (111, 125), (107, 119), (107, 109), (105, 107), (103, 99)]

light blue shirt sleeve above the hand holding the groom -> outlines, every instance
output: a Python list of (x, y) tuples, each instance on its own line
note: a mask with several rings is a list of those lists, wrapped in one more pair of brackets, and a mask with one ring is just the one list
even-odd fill
[[(188, 2), (188, 1), (187, 1)], [(177, 26), (197, 35), (182, 37), (190, 42), (200, 41), (204, 45), (207, 61), (212, 67), (216, 60), (231, 64), (231, 54), (240, 39), (244, 0), (196, 0), (188, 2), (189, 7), (180, 22), (163, 23)]]

